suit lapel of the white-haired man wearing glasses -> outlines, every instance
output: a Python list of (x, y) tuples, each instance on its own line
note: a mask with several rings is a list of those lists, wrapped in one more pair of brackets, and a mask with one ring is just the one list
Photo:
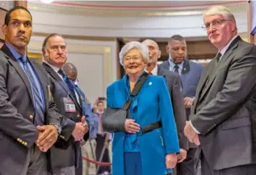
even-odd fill
[[(229, 45), (228, 50), (225, 52), (224, 56), (220, 58), (220, 61), (218, 64), (215, 66), (214, 64), (216, 63), (215, 61), (212, 61), (212, 65), (209, 68), (208, 75), (206, 77), (207, 83), (204, 85), (204, 90), (202, 91), (202, 94), (199, 96), (199, 101), (204, 97), (208, 89), (211, 87), (213, 81), (215, 80), (215, 77), (219, 71), (218, 69), (221, 68), (221, 65), (224, 65), (223, 63), (225, 60), (233, 53), (233, 49), (237, 48), (238, 42), (241, 40), (240, 36), (238, 36), (233, 42)], [(215, 69), (215, 70), (212, 70)], [(212, 73), (212, 75), (209, 75), (209, 73)], [(202, 89), (202, 88), (201, 88)]]

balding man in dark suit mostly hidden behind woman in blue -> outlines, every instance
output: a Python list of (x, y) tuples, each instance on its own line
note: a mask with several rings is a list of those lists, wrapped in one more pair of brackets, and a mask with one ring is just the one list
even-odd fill
[(172, 73), (168, 70), (160, 68), (157, 65), (157, 59), (161, 57), (161, 51), (159, 50), (158, 44), (155, 41), (144, 40), (142, 44), (145, 44), (149, 48), (149, 62), (146, 70), (149, 72), (149, 74), (165, 77), (169, 87), (170, 98), (174, 109), (175, 123), (178, 130), (180, 147), (178, 163), (180, 163), (186, 159), (188, 149), (188, 141), (183, 133), (187, 118), (183, 102), (182, 81), (177, 73)]

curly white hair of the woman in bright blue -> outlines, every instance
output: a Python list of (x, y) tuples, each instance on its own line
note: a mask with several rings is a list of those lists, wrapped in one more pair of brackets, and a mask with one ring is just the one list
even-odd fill
[(142, 58), (143, 58), (144, 62), (148, 63), (148, 61), (149, 61), (149, 50), (148, 50), (148, 47), (145, 46), (145, 44), (141, 44), (138, 41), (131, 41), (131, 42), (125, 44), (124, 47), (121, 49), (121, 51), (119, 53), (120, 65), (124, 66), (124, 56), (126, 56), (126, 54), (130, 50), (132, 50), (134, 48), (136, 48), (139, 51), (141, 51), (141, 55), (142, 55)]

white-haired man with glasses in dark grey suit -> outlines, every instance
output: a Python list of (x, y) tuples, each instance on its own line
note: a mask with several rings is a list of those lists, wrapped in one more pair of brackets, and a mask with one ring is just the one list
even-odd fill
[(237, 35), (225, 6), (206, 10), (203, 27), (219, 52), (200, 78), (185, 135), (199, 145), (202, 175), (254, 175), (256, 46)]

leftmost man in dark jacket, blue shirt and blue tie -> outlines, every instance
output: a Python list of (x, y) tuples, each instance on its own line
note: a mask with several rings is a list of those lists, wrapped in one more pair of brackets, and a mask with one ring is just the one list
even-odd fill
[[(15, 6), (2, 27), (0, 51), (0, 174), (47, 175), (48, 149), (61, 133), (44, 68), (26, 54), (31, 39), (30, 12)], [(65, 135), (63, 135), (65, 136)]]

